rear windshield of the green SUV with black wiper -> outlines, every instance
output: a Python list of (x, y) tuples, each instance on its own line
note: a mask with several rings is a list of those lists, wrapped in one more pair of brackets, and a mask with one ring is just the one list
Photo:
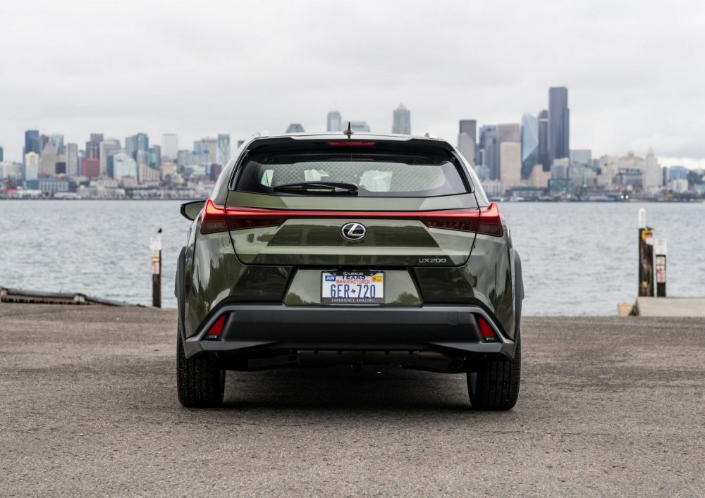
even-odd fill
[(272, 195), (436, 197), (469, 192), (455, 158), (388, 151), (254, 151), (236, 190)]

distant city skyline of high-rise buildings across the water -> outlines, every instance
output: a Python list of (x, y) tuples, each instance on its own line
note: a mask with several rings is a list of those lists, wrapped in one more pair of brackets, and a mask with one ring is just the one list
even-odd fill
[[(326, 130), (340, 132), (350, 123), (355, 132), (370, 132), (367, 121), (326, 116)], [(304, 133), (291, 123), (286, 133)], [(411, 111), (400, 104), (392, 111), (391, 133), (411, 135)], [(237, 141), (237, 148), (243, 144)], [(548, 108), (524, 113), (520, 123), (477, 124), (462, 119), (458, 151), (476, 171), (493, 199), (620, 200), (705, 198), (705, 171), (682, 166), (662, 168), (654, 151), (644, 157), (594, 158), (589, 149), (570, 149), (568, 89), (548, 89)], [(4, 161), (0, 147), (1, 197), (80, 197), (87, 199), (161, 199), (207, 197), (231, 158), (230, 135), (204, 137), (190, 149), (180, 148), (175, 133), (161, 144), (144, 132), (124, 142), (92, 133), (80, 148), (63, 135), (27, 130), (23, 161)]]

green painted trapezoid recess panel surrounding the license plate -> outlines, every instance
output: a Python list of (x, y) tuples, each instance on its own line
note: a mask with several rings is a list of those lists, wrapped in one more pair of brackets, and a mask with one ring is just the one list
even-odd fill
[[(329, 268), (335, 270), (336, 268)], [(376, 270), (377, 268), (374, 268)], [(321, 272), (324, 270), (298, 270), (284, 297), (290, 306), (321, 306)], [(421, 306), (421, 297), (407, 270), (384, 271), (384, 306)], [(336, 306), (327, 304), (323, 306)], [(348, 305), (351, 306), (351, 305)], [(370, 306), (358, 304), (353, 306)], [(377, 305), (372, 305), (377, 306)]]

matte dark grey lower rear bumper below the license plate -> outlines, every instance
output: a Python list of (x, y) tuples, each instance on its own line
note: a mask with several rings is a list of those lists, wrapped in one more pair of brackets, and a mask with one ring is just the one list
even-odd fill
[[(226, 315), (219, 339), (209, 328)], [(479, 331), (482, 316), (497, 335), (486, 342)], [(200, 353), (246, 353), (252, 349), (330, 351), (441, 351), (462, 356), (513, 358), (515, 344), (496, 319), (479, 306), (285, 306), (226, 304), (192, 337), (186, 356)]]

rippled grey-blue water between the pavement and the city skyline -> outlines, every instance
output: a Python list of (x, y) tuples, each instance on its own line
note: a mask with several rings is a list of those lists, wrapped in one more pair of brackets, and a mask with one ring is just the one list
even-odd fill
[[(0, 201), (0, 286), (150, 305), (163, 229), (164, 306), (188, 220), (177, 201)], [(503, 203), (527, 315), (613, 315), (637, 292), (637, 211), (668, 238), (668, 294), (705, 296), (705, 204)]]

